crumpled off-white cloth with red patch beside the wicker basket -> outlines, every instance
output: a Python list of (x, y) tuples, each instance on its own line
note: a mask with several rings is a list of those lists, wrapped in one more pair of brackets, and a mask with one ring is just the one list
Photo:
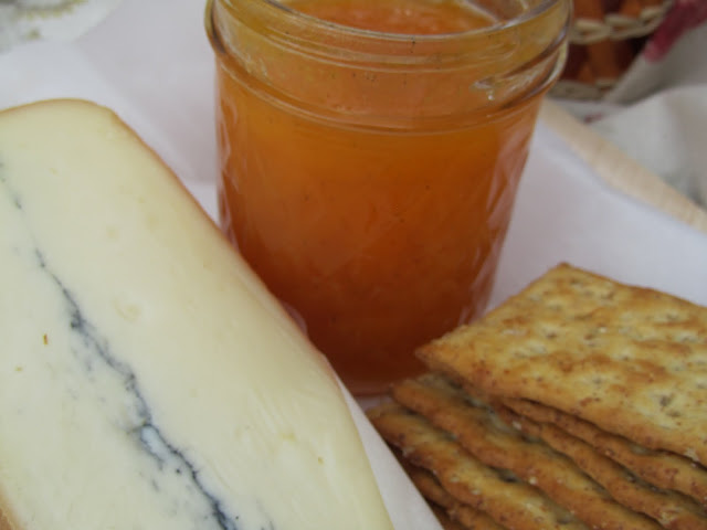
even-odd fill
[(694, 20), (707, 15), (707, 1), (676, 0), (674, 10), (680, 9), (695, 11), (682, 15), (680, 23), (688, 28), (669, 42), (658, 35), (665, 50), (656, 53), (658, 44), (652, 43), (602, 100), (558, 103), (707, 206), (707, 20)]

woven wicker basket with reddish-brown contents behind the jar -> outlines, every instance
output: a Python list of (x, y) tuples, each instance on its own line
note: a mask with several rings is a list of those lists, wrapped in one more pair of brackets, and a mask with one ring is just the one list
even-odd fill
[(601, 99), (629, 70), (673, 0), (574, 0), (569, 54), (551, 95)]

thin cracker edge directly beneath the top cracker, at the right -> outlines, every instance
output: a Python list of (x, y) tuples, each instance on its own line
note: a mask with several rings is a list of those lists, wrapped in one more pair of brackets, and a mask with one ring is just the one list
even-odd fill
[(623, 436), (608, 433), (592, 423), (539, 403), (511, 399), (503, 403), (530, 420), (557, 425), (647, 483), (680, 491), (707, 506), (707, 469), (695, 462), (674, 453), (647, 449)]

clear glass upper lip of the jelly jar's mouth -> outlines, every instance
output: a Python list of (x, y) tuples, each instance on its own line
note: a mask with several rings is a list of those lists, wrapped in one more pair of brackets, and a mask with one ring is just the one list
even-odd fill
[[(483, 64), (504, 62), (509, 54), (516, 53), (509, 46), (524, 32), (548, 32), (538, 40), (547, 41), (540, 45), (546, 49), (541, 50), (534, 43), (534, 47), (538, 47), (538, 56), (551, 53), (566, 41), (572, 17), (572, 0), (535, 0), (537, 3), (534, 0), (514, 1), (525, 4), (515, 17), (453, 33), (395, 33), (362, 29), (298, 11), (282, 0), (207, 0), (205, 25), (215, 50), (229, 47), (226, 42), (230, 38), (221, 34), (226, 24), (217, 21), (223, 17), (260, 26), (267, 32), (268, 39), (279, 42), (283, 47), (296, 49), (326, 61), (359, 62), (367, 66), (393, 60), (400, 65), (426, 67), (431, 57), (437, 65), (446, 63), (450, 67), (454, 67), (454, 63), (468, 64), (472, 59)], [(529, 30), (526, 31), (526, 28)], [(223, 32), (225, 34), (229, 30)], [(507, 39), (505, 35), (516, 36)], [(221, 42), (222, 39), (226, 42)], [(513, 46), (517, 50), (523, 43), (518, 41)]]

